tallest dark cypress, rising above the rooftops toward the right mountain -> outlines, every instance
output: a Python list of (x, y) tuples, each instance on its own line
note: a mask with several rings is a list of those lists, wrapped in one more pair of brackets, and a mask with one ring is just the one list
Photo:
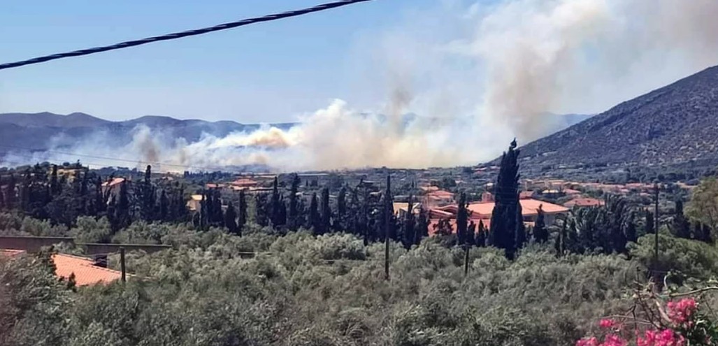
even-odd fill
[(490, 244), (503, 249), (509, 259), (514, 258), (517, 248), (518, 154), (514, 139), (508, 151), (501, 156), (501, 166), (494, 184), (495, 206), (491, 213), (489, 236)]

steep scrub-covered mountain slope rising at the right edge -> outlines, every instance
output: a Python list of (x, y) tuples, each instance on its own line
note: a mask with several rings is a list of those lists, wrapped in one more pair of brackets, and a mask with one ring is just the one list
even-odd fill
[(521, 148), (523, 165), (718, 164), (718, 66)]

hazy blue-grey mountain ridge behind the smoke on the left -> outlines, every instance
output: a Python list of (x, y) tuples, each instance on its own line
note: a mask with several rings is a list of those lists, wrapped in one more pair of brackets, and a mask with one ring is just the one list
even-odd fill
[[(243, 124), (234, 121), (180, 120), (168, 116), (143, 116), (128, 121), (108, 121), (85, 113), (65, 115), (55, 113), (0, 113), (0, 156), (8, 151), (27, 149), (40, 151), (50, 149), (51, 139), (62, 139), (71, 144), (92, 134), (109, 136), (118, 146), (131, 141), (131, 133), (144, 125), (162, 131), (169, 138), (182, 138), (188, 142), (199, 140), (203, 134), (223, 137), (237, 131), (253, 131), (259, 124)], [(276, 123), (288, 129), (295, 123)]]

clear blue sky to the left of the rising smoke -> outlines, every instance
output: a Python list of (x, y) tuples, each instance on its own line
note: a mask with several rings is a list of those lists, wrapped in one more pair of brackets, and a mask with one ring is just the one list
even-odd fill
[[(0, 62), (298, 9), (322, 0), (6, 1)], [(377, 0), (304, 17), (0, 71), (0, 113), (82, 111), (287, 121), (360, 105), (358, 43), (437, 0)]]

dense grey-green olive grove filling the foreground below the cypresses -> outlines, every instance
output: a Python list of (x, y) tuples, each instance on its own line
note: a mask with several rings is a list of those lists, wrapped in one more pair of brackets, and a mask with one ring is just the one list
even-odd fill
[[(126, 234), (177, 239), (174, 227), (138, 224)], [(32, 257), (2, 262), (0, 287), (19, 293), (0, 298), (37, 296), (3, 310), (3, 321), (22, 321), (3, 334), (28, 338), (2, 345), (43, 345), (32, 338), (39, 329), (59, 338), (45, 345), (572, 345), (625, 304), (638, 266), (620, 256), (557, 258), (535, 245), (510, 262), (472, 248), (465, 277), (464, 251), (430, 238), (408, 251), (392, 243), (385, 281), (383, 244), (354, 235), (185, 229), (174, 245), (129, 253), (126, 284), (76, 292)]]

